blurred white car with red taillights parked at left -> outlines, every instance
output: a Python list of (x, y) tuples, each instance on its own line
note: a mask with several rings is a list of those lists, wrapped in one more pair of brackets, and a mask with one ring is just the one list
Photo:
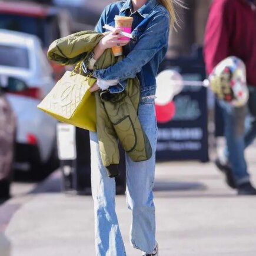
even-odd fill
[(15, 167), (40, 175), (55, 161), (57, 121), (36, 107), (55, 84), (36, 36), (0, 29), (0, 79), (17, 117)]

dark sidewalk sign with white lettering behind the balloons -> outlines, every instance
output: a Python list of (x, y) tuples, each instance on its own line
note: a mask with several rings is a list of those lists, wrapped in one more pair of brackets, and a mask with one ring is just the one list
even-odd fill
[[(203, 81), (204, 63), (195, 59), (168, 60), (162, 70), (174, 69), (185, 81)], [(174, 98), (175, 114), (158, 122), (157, 160), (208, 161), (207, 88), (185, 86)]]

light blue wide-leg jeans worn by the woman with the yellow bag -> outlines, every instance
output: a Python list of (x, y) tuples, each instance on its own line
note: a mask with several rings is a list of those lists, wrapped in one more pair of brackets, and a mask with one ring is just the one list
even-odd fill
[[(155, 206), (153, 202), (157, 121), (154, 99), (141, 99), (138, 117), (151, 143), (153, 155), (148, 161), (126, 158), (127, 205), (132, 212), (130, 240), (134, 248), (150, 253), (155, 248)], [(90, 132), (91, 183), (95, 211), (95, 247), (97, 256), (125, 256), (125, 247), (115, 212), (115, 179), (109, 178), (99, 155), (98, 137)]]

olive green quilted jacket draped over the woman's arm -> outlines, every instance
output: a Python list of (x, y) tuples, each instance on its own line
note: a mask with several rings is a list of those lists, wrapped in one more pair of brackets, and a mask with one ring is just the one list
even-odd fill
[[(49, 46), (48, 59), (59, 65), (77, 64), (89, 55), (103, 36), (95, 31), (81, 31), (58, 39)], [(111, 49), (107, 49), (95, 63), (94, 69), (108, 68), (122, 58), (124, 56), (115, 57)], [(134, 78), (128, 79), (125, 91), (119, 94), (94, 92), (99, 151), (109, 177), (119, 174), (118, 140), (135, 162), (145, 161), (152, 156), (151, 145), (137, 116), (139, 87), (138, 78)]]

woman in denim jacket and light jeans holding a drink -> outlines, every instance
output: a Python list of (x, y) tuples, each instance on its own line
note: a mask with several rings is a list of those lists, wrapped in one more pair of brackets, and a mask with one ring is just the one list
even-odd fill
[[(91, 91), (108, 89), (111, 93), (124, 91), (128, 78), (139, 78), (141, 99), (138, 117), (152, 147), (152, 157), (147, 161), (133, 162), (126, 155), (127, 205), (132, 211), (130, 231), (131, 244), (142, 251), (142, 255), (158, 255), (155, 238), (155, 206), (152, 188), (155, 176), (155, 149), (157, 144), (157, 121), (155, 118), (155, 90), (158, 67), (168, 48), (169, 28), (177, 22), (174, 0), (126, 0), (108, 5), (102, 12), (95, 28), (104, 33), (105, 24), (114, 26), (115, 15), (131, 16), (131, 41), (123, 41), (115, 29), (101, 39), (83, 69), (93, 67), (105, 49), (123, 46), (126, 56), (107, 69), (94, 70), (97, 84)], [(125, 247), (115, 212), (115, 179), (109, 178), (99, 154), (97, 132), (90, 132), (91, 182), (95, 208), (95, 247), (100, 256), (124, 256)]]

